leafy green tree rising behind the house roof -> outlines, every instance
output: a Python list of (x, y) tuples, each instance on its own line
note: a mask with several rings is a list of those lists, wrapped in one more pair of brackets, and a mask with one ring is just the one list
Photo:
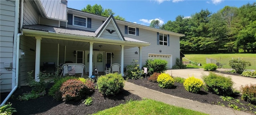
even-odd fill
[[(111, 9), (105, 9), (102, 8), (102, 6), (98, 5), (98, 4), (94, 4), (93, 6), (91, 6), (90, 4), (88, 4), (86, 6), (86, 8), (83, 8), (82, 11), (84, 12), (89, 12), (92, 14), (96, 14), (96, 15), (100, 15), (100, 16), (105, 16), (105, 17), (109, 17), (110, 15), (115, 15), (115, 13), (111, 10)], [(117, 20), (122, 20), (125, 21), (125, 18), (117, 15), (114, 16), (115, 19)]]

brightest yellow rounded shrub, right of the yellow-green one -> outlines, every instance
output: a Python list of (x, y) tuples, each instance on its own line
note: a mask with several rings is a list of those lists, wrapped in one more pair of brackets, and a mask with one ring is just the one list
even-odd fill
[(188, 92), (198, 93), (198, 91), (200, 91), (201, 87), (203, 86), (203, 81), (192, 76), (188, 77), (184, 81), (183, 85)]

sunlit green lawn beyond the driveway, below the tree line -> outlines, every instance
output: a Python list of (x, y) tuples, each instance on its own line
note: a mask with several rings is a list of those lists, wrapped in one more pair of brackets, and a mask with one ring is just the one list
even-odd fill
[[(223, 68), (231, 68), (228, 61), (232, 58), (240, 58), (251, 63), (251, 66), (247, 66), (246, 69), (256, 69), (256, 54), (185, 54), (185, 58), (202, 65), (206, 64), (206, 57), (216, 59), (217, 62), (223, 65)], [(182, 61), (188, 61), (185, 58)], [(196, 65), (187, 65), (187, 67), (203, 68), (203, 66)]]

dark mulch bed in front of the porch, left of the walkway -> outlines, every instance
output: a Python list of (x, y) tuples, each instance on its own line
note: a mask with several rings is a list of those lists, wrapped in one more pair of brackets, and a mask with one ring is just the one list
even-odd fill
[[(48, 85), (48, 89), (52, 84)], [(12, 107), (16, 108), (18, 112), (13, 115), (88, 115), (102, 111), (110, 107), (115, 107), (124, 104), (130, 100), (141, 100), (138, 95), (134, 95), (126, 90), (121, 91), (116, 96), (103, 97), (98, 90), (95, 90), (91, 95), (93, 97), (92, 105), (86, 106), (81, 101), (56, 101), (53, 97), (45, 95), (38, 99), (29, 101), (19, 101), (16, 98), (18, 95), (26, 91), (31, 91), (31, 87), (22, 86), (14, 92), (8, 102), (12, 103)], [(8, 93), (1, 93), (2, 96), (7, 96)], [(1, 100), (2, 101), (2, 100)]]

